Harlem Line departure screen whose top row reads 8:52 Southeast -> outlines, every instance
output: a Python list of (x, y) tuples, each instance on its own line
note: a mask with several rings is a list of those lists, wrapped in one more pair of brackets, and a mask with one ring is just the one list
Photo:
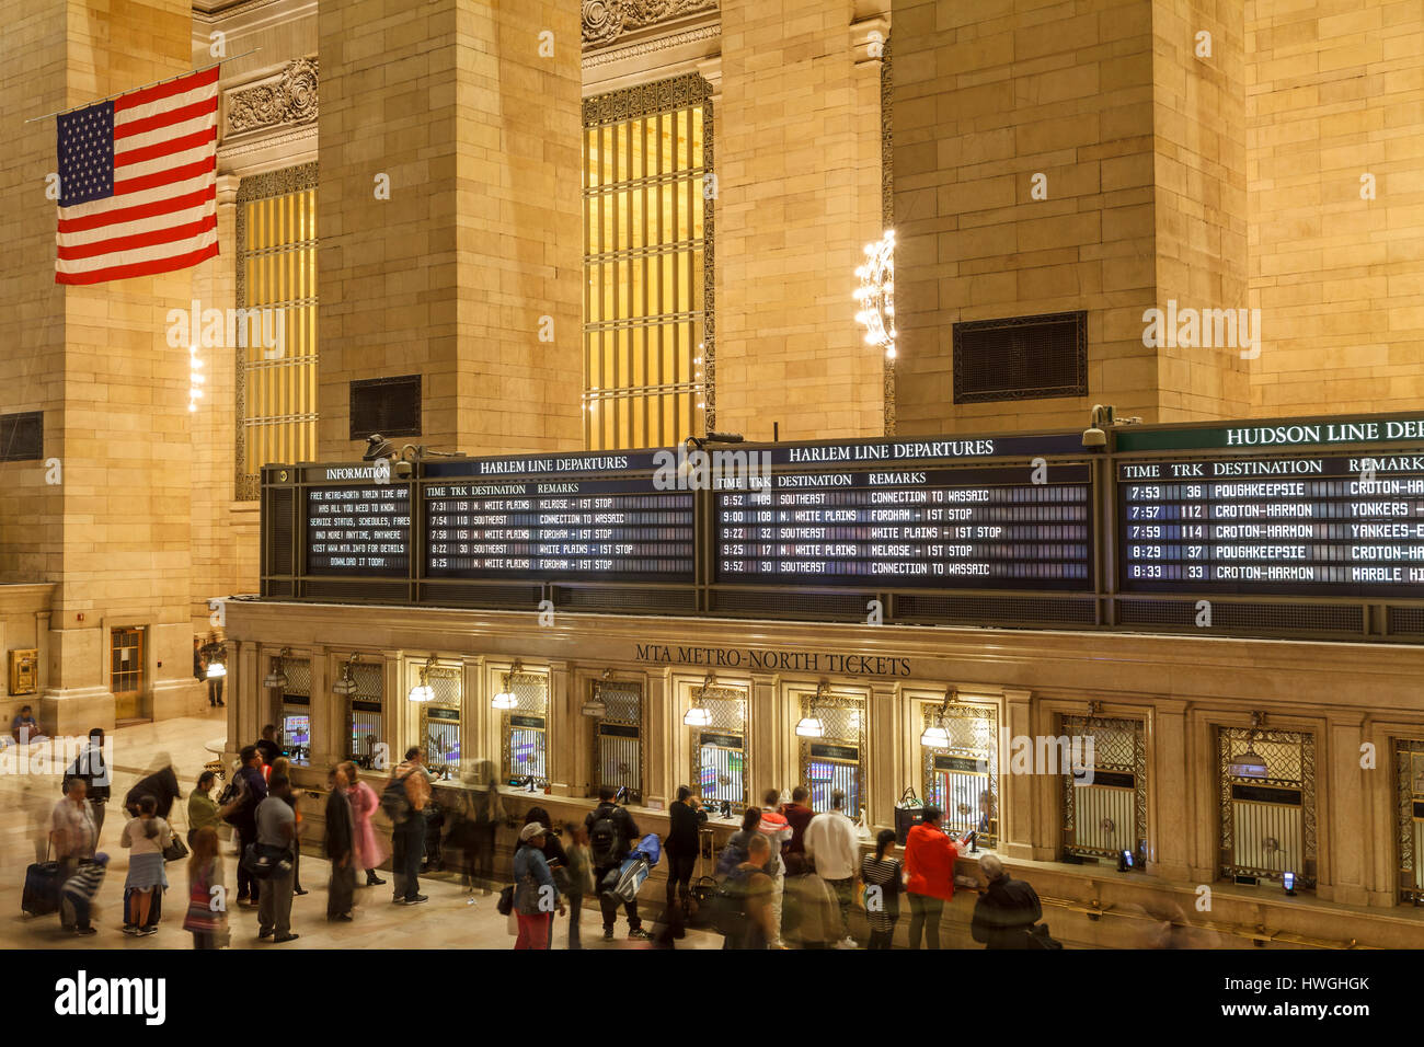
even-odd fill
[(716, 580), (1089, 590), (1085, 464), (772, 472), (715, 493)]

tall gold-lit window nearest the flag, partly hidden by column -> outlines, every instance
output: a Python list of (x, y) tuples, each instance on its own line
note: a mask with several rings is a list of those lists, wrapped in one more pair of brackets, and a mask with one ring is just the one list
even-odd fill
[(236, 298), (272, 311), (269, 326), (251, 330), (281, 335), (235, 346), (236, 497), (255, 500), (265, 463), (316, 457), (316, 164), (238, 187)]

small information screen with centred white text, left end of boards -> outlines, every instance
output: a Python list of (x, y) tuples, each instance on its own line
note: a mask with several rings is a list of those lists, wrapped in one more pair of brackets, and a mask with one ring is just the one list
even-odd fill
[(410, 487), (306, 489), (306, 573), (406, 577)]

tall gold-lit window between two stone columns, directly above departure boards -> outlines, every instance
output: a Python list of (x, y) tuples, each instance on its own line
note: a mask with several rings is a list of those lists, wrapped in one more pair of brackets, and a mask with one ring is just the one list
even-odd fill
[(584, 439), (659, 447), (715, 420), (711, 87), (584, 101)]

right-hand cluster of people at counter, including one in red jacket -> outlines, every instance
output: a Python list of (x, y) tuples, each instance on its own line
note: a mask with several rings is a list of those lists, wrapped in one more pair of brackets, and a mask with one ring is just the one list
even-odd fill
[[(632, 813), (605, 788), (581, 825), (558, 829), (543, 808), (531, 808), (520, 829), (513, 885), (504, 905), (517, 920), (515, 949), (548, 949), (555, 919), (568, 915), (568, 947), (580, 947), (578, 910), (592, 890), (602, 912), (604, 939), (615, 937), (618, 909), (628, 937), (654, 947), (675, 947), (688, 926), (703, 924), (723, 937), (725, 949), (859, 949), (853, 912), (864, 915), (866, 949), (890, 949), (903, 906), (910, 912), (909, 946), (940, 949), (946, 903), (954, 897), (958, 848), (933, 806), (909, 829), (904, 848), (893, 829), (877, 833), (862, 853), (860, 829), (836, 791), (816, 812), (810, 791), (797, 786), (790, 801), (768, 791), (762, 806), (749, 806), (740, 829), (716, 858), (715, 875), (692, 877), (701, 853), (701, 801), (679, 786), (668, 809), (666, 899), (654, 930), (644, 929), (637, 893), (621, 892), (629, 863), (648, 850)], [(560, 835), (567, 838), (565, 846)], [(1034, 889), (1010, 876), (991, 853), (980, 859), (987, 886), (971, 919), (971, 936), (988, 949), (1052, 949), (1040, 924), (1042, 906)]]

